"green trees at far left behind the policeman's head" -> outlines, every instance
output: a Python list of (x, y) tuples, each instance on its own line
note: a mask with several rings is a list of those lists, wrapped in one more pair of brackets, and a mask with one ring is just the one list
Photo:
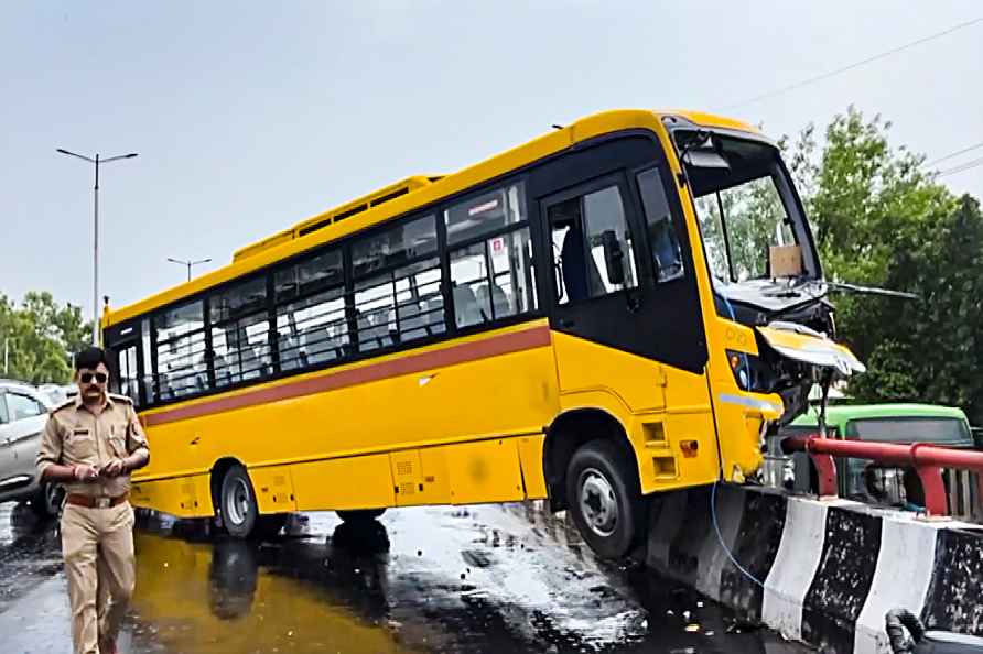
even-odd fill
[[(91, 324), (77, 306), (60, 307), (51, 293), (28, 293), (20, 307), (0, 295), (0, 357), (7, 369), (0, 375), (30, 383), (67, 383), (72, 377), (68, 352), (85, 347)], [(0, 359), (0, 366), (3, 360)]]

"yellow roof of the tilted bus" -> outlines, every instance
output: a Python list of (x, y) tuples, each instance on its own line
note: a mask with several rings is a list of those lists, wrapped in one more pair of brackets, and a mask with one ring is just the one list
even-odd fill
[(628, 129), (656, 129), (666, 117), (679, 117), (700, 127), (758, 134), (753, 126), (699, 111), (650, 111), (617, 109), (581, 118), (569, 126), (547, 132), (522, 145), (450, 175), (414, 175), (363, 197), (348, 200), (293, 227), (273, 233), (235, 251), (233, 262), (190, 282), (179, 284), (134, 304), (110, 310), (106, 307), (102, 325), (107, 327), (235, 280), (255, 270), (360, 231), (419, 207), (439, 201), (560, 152), (598, 135)]

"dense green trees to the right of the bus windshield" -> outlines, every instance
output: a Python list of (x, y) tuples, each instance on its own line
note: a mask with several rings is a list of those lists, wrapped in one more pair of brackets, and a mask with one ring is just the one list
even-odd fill
[(889, 123), (852, 107), (825, 132), (782, 141), (833, 281), (909, 291), (920, 301), (838, 295), (839, 336), (868, 367), (863, 401), (963, 407), (983, 423), (983, 215), (921, 155), (892, 149)]

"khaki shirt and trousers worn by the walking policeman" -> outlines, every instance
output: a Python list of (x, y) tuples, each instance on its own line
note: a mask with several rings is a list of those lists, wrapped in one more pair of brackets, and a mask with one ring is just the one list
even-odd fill
[[(140, 449), (147, 449), (147, 437), (129, 397), (108, 395), (97, 416), (79, 395), (51, 412), (37, 470), (44, 472), (53, 464), (101, 469)], [(89, 508), (66, 502), (61, 526), (75, 653), (99, 654), (100, 643), (116, 640), (136, 584), (133, 510), (126, 501), (130, 476), (66, 483), (65, 490), (96, 503)]]

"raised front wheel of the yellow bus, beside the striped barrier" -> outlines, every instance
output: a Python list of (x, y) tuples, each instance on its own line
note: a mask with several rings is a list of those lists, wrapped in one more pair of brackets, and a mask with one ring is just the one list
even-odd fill
[(629, 457), (611, 440), (582, 445), (566, 467), (568, 512), (603, 558), (628, 554), (641, 531), (642, 502)]

